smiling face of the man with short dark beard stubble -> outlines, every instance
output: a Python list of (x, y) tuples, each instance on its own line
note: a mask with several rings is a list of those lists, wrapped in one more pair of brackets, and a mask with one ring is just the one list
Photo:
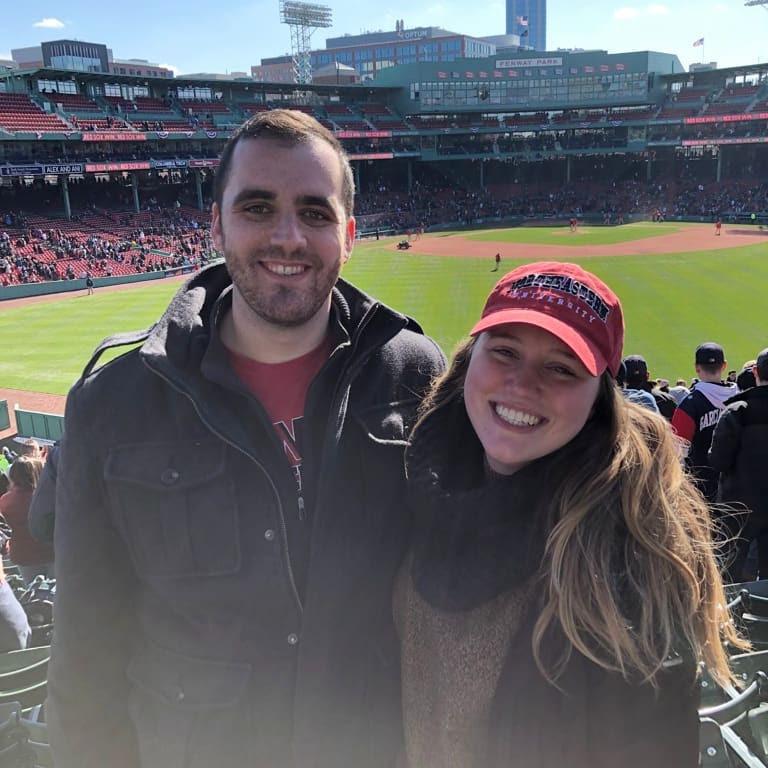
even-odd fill
[(262, 321), (299, 327), (327, 311), (352, 252), (339, 156), (324, 141), (242, 139), (211, 231), (235, 291)]

